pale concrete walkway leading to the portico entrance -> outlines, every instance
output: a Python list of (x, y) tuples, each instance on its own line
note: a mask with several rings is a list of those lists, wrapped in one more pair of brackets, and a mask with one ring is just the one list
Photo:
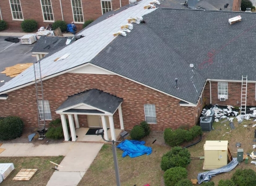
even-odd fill
[[(103, 143), (66, 142), (48, 145), (4, 143), (0, 157), (65, 156), (46, 186), (76, 186)], [(61, 167), (62, 166), (62, 167)]]

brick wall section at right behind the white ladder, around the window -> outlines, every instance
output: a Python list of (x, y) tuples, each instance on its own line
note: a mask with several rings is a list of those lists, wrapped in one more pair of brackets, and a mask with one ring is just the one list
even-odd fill
[[(218, 83), (211, 82), (211, 104), (240, 106), (241, 102), (241, 83), (228, 83), (228, 99), (221, 102), (218, 99)], [(210, 104), (210, 83), (207, 82), (204, 89), (203, 99), (205, 104)], [(255, 83), (247, 84), (247, 105), (255, 106)]]

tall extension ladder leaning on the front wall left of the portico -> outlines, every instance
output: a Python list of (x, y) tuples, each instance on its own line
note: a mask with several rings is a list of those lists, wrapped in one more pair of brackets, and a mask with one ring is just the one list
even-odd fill
[(45, 128), (45, 104), (43, 101), (43, 83), (41, 75), (41, 65), (40, 61), (33, 64), (34, 75), (35, 75), (35, 92), (36, 92), (36, 103), (38, 106), (38, 133), (39, 138), (45, 138), (46, 128)]

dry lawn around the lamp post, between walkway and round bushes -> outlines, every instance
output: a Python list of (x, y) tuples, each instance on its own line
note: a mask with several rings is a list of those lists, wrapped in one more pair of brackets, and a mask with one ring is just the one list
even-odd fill
[[(163, 171), (160, 161), (169, 147), (150, 144), (152, 153), (141, 157), (122, 158), (121, 150), (117, 149), (119, 173), (122, 186), (145, 185), (163, 186)], [(92, 162), (78, 186), (116, 185), (112, 148), (110, 144), (104, 144), (98, 156)]]

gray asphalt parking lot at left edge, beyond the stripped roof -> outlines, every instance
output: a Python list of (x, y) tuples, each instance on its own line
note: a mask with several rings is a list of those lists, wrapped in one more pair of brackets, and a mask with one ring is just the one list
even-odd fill
[[(0, 72), (4, 71), (6, 67), (10, 67), (20, 63), (34, 63), (35, 57), (32, 57), (32, 48), (34, 44), (21, 44), (4, 41), (6, 37), (20, 37), (20, 36), (0, 36)], [(0, 87), (4, 83), (11, 80), (11, 77), (5, 74), (0, 74)]]

